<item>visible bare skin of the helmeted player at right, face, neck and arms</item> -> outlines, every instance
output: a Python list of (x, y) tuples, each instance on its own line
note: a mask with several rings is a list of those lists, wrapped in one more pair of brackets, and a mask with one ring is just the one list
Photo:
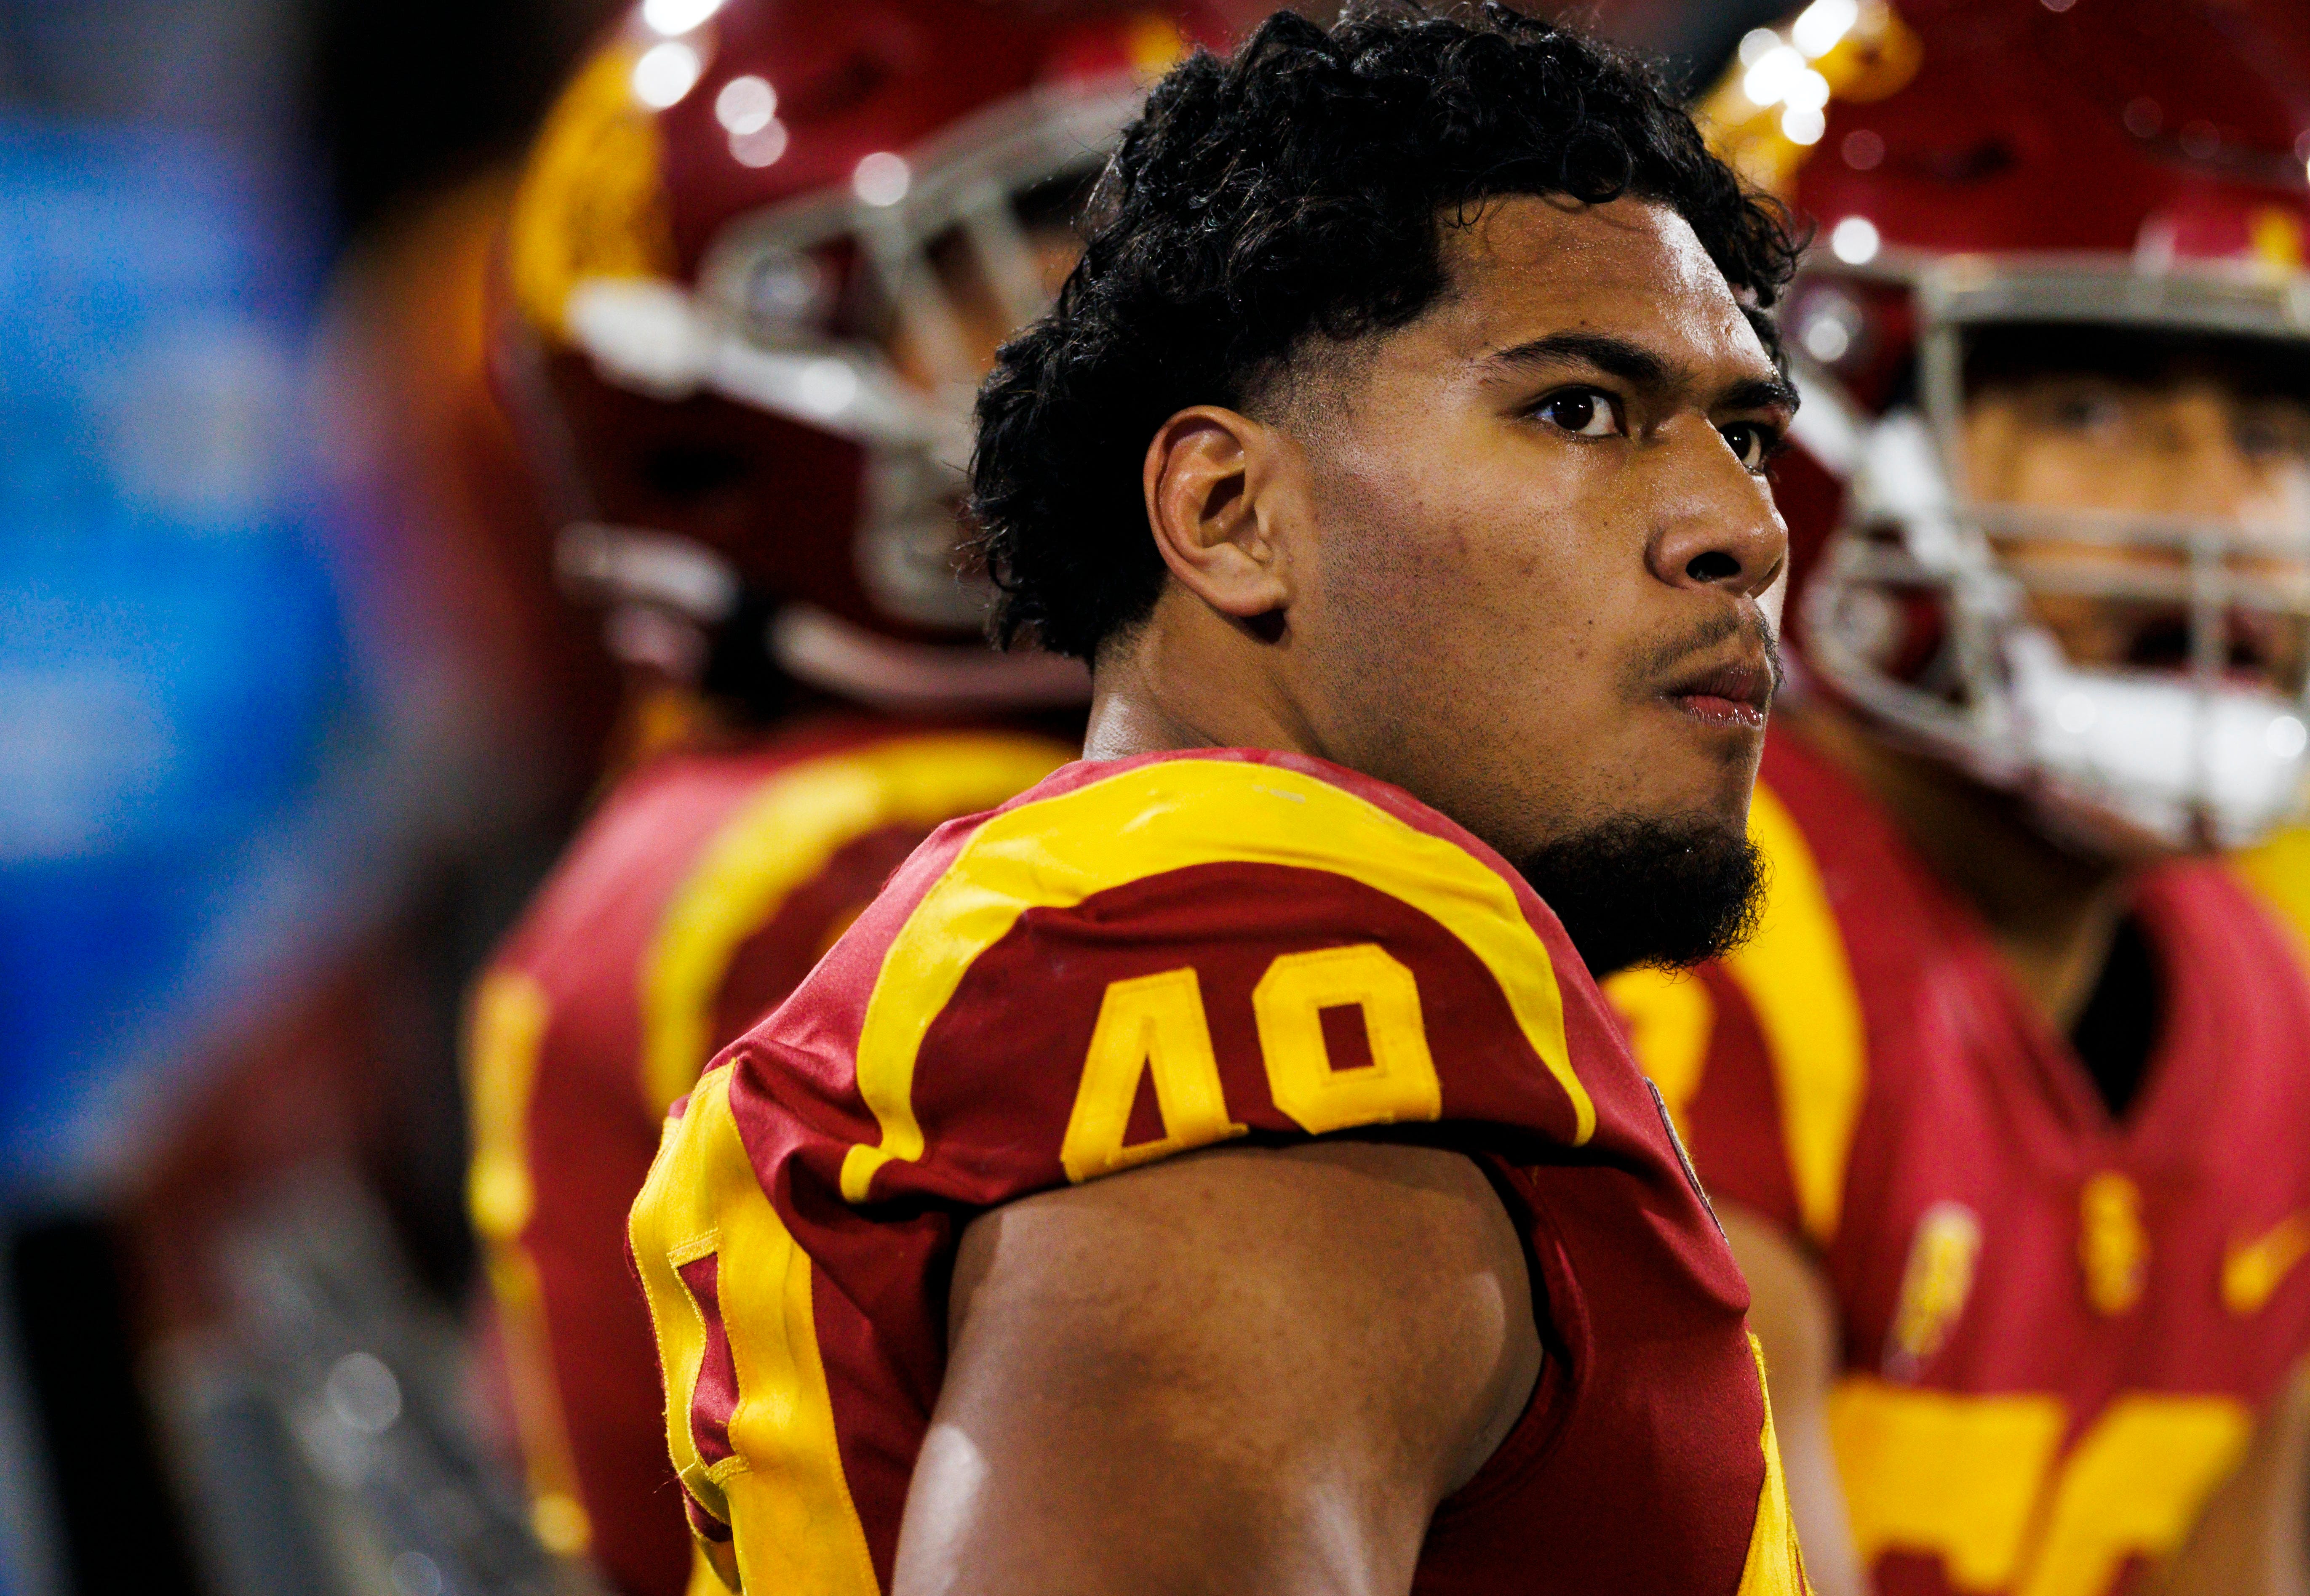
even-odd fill
[[(1968, 487), (1989, 504), (2266, 524), (2301, 504), (2310, 411), (2289, 400), (2241, 397), (2206, 379), (2144, 388), (2049, 374), (1982, 393), (1966, 416), (1964, 446)], [(2155, 566), (2171, 557), (2035, 545), (2017, 550), (2017, 559), (2077, 568)], [(2063, 651), (2088, 665), (2137, 661), (2144, 626), (2153, 621), (2102, 598), (2040, 594), (2033, 605)], [(2301, 670), (2294, 637), (2271, 631), (2261, 640), (2261, 668), (2287, 686)], [(2093, 995), (2134, 880), (2153, 855), (2091, 857), (2061, 848), (2019, 799), (1940, 760), (1883, 744), (1832, 704), (1806, 704), (1788, 711), (1788, 721), (1894, 813), (1933, 873), (1980, 910), (2019, 991), (2056, 1032), (2067, 1032)], [(1776, 1226), (1732, 1203), (1719, 1208), (1753, 1293), (1751, 1328), (1772, 1367), (1774, 1420), (1806, 1573), (1820, 1596), (1862, 1596), (1866, 1575), (1853, 1554), (1827, 1432), (1830, 1388), (1843, 1363), (1834, 1293), (1818, 1263)], [(2305, 1455), (2310, 1372), (2296, 1374), (2289, 1395), (2264, 1418), (2238, 1474), (2215, 1492), (2199, 1529), (2158, 1573), (2155, 1589), (2162, 1596), (2310, 1591)]]

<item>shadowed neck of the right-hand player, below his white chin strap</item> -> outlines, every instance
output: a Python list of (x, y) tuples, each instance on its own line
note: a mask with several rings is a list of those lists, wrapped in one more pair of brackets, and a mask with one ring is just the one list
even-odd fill
[(1788, 718), (1892, 813), (1933, 875), (1989, 926), (2021, 993), (2067, 1035), (2109, 961), (2139, 866), (2063, 848), (2024, 799), (1894, 748), (1832, 704)]

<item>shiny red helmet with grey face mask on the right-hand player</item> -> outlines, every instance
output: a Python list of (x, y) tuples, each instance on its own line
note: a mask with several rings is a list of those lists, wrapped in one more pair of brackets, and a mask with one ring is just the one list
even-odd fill
[[(1820, 229), (1783, 312), (1809, 677), (2088, 841), (2241, 843), (2298, 806), (2310, 483), (2255, 524), (1989, 504), (1966, 407), (2024, 346), (2310, 376), (2305, 39), (2287, 0), (1816, 0), (1700, 109)], [(2056, 587), (2169, 605), (2181, 668), (2067, 658)], [(2292, 663), (2241, 684), (2241, 626)]]

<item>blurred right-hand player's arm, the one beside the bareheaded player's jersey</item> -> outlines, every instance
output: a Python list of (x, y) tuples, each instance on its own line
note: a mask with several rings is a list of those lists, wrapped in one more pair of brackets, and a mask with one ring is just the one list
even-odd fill
[(1843, 1360), (1830, 1282), (1769, 1220), (1735, 1203), (1719, 1203), (1719, 1217), (1732, 1259), (1749, 1277), (1749, 1328), (1765, 1347), (1772, 1427), (1781, 1439), (1788, 1511), (1797, 1517), (1806, 1582), (1816, 1596), (1866, 1596), (1869, 1580), (1853, 1550), (1846, 1490), (1830, 1448), (1830, 1388)]

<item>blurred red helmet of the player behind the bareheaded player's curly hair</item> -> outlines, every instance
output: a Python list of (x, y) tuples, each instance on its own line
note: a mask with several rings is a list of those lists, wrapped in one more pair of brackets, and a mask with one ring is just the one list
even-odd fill
[(970, 400), (1178, 5), (644, 0), (580, 67), (504, 249), (499, 386), (564, 577), (628, 661), (765, 700), (1076, 702), (959, 577)]

